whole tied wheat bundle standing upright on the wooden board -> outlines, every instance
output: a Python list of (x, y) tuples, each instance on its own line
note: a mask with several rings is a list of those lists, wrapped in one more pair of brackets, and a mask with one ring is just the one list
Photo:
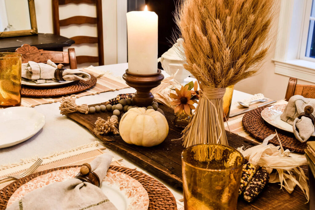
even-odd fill
[(273, 0), (183, 0), (175, 19), (184, 39), (184, 68), (198, 80), (200, 100), (183, 130), (185, 147), (228, 145), (226, 87), (254, 75), (268, 54)]

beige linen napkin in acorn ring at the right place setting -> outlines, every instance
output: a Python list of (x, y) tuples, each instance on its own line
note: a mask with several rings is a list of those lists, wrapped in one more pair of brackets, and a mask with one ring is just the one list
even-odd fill
[[(297, 118), (304, 108), (310, 105), (315, 107), (315, 99), (304, 98), (301, 95), (294, 95), (289, 99), (288, 105), (285, 107), (283, 114), (280, 116), (281, 120), (288, 122), (292, 125), (295, 137), (305, 142), (314, 133), (314, 125), (310, 118), (302, 116), (301, 119)], [(314, 115), (313, 111), (313, 115)]]

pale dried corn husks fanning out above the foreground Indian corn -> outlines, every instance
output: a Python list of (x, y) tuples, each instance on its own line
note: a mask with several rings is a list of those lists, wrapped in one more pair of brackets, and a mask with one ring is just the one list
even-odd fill
[[(309, 186), (302, 165), (307, 165), (305, 157), (289, 157), (290, 150), (284, 150), (281, 141), (280, 146), (268, 144), (268, 141), (278, 136), (277, 133), (268, 136), (261, 145), (251, 147), (244, 150), (244, 147), (239, 147), (243, 156), (248, 159), (249, 163), (254, 166), (265, 167), (270, 174), (270, 183), (280, 183), (280, 189), (284, 187), (291, 193), (295, 186), (298, 185), (303, 191), (307, 202), (309, 201)], [(275, 169), (275, 172), (273, 172)]]

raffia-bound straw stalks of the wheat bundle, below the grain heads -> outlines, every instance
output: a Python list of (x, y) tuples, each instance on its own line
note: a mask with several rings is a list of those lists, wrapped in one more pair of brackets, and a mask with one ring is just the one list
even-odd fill
[(228, 145), (223, 121), (225, 88), (200, 86), (201, 98), (189, 124), (183, 130), (183, 145), (215, 143)]

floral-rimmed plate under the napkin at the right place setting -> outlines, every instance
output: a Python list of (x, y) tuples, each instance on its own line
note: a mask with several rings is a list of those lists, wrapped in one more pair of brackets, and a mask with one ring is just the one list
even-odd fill
[[(283, 113), (285, 106), (286, 104), (280, 104), (266, 107), (261, 111), (261, 117), (270, 125), (293, 133), (292, 125), (280, 119), (280, 115)], [(315, 136), (315, 132), (312, 136)]]

